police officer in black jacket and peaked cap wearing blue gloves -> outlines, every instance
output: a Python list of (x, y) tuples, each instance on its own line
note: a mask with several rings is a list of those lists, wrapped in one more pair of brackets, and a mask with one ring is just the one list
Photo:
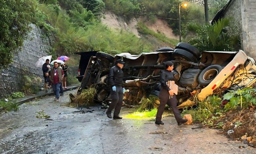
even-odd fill
[(122, 119), (119, 117), (119, 113), (123, 104), (123, 60), (116, 60), (116, 66), (110, 68), (108, 84), (111, 87), (110, 97), (112, 99), (111, 104), (107, 109), (108, 118), (112, 118), (111, 112), (115, 108), (113, 119)]

